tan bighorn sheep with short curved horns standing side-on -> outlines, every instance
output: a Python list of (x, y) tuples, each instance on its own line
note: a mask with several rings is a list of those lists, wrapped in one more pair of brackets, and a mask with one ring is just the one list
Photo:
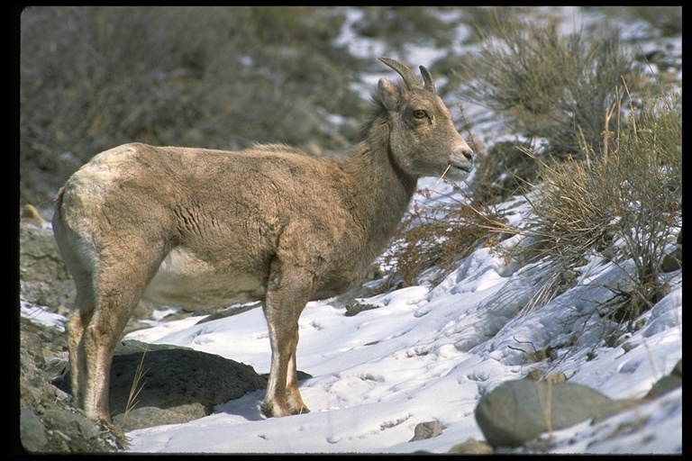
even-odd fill
[(53, 230), (77, 285), (67, 325), (72, 392), (111, 420), (114, 346), (140, 298), (187, 310), (262, 301), (271, 369), (262, 413), (308, 411), (298, 391), (298, 318), (341, 294), (387, 247), (420, 176), (457, 177), (472, 151), (436, 94), (394, 59), (360, 140), (337, 158), (284, 145), (239, 152), (131, 143), (59, 190)]

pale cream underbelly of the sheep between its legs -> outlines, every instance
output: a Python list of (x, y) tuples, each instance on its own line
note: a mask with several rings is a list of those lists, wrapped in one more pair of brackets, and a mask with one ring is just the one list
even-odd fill
[(265, 292), (266, 287), (256, 276), (220, 275), (215, 267), (185, 249), (173, 249), (141, 297), (152, 303), (196, 311), (259, 301)]

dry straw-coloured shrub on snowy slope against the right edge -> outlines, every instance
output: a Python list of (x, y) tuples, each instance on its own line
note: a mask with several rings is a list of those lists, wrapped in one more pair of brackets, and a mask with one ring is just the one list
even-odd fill
[[(583, 159), (542, 164), (524, 229), (531, 244), (513, 255), (565, 270), (589, 255), (632, 264), (624, 270), (629, 280), (611, 287), (615, 297), (602, 312), (615, 321), (635, 320), (666, 293), (661, 262), (682, 225), (681, 94), (630, 110), (615, 131), (604, 131), (600, 153), (582, 140)], [(609, 116), (614, 113), (622, 111), (615, 107)]]

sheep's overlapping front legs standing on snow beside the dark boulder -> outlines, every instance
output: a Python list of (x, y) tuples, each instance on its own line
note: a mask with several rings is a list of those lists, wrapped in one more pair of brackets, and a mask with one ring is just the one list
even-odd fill
[(301, 270), (274, 269), (263, 304), (269, 325), (271, 370), (261, 411), (268, 418), (309, 411), (298, 390), (296, 348), (298, 318), (310, 297), (313, 278)]

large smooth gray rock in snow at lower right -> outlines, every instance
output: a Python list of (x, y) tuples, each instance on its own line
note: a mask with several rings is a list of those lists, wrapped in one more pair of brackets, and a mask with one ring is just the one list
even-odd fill
[(476, 420), (493, 447), (518, 447), (547, 430), (602, 419), (635, 404), (609, 399), (581, 384), (520, 379), (481, 397)]

